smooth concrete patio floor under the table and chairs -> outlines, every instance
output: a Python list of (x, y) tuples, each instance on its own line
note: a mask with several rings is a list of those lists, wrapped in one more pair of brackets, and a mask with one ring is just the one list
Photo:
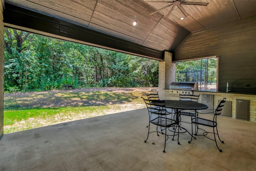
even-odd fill
[(169, 138), (163, 153), (164, 135), (144, 143), (147, 124), (144, 108), (4, 134), (0, 171), (256, 170), (256, 123), (218, 117), (222, 153), (204, 136), (189, 144), (188, 133), (180, 145)]

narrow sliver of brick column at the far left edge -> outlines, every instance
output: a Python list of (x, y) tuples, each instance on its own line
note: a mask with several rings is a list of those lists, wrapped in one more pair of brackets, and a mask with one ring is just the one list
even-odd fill
[(3, 1), (0, 0), (0, 139), (4, 135), (4, 24)]

